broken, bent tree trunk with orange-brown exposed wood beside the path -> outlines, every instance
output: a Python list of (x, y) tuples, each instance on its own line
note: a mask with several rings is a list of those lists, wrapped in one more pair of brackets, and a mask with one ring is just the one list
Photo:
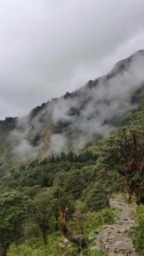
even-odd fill
[(86, 248), (85, 238), (83, 235), (74, 236), (68, 231), (68, 213), (64, 212), (61, 208), (60, 213), (60, 229), (65, 238), (70, 242), (78, 244), (82, 249)]

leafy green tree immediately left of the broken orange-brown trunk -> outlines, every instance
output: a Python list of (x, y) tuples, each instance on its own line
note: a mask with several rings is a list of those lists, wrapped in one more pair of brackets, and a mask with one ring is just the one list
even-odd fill
[(46, 244), (48, 232), (51, 223), (55, 230), (59, 229), (59, 207), (66, 209), (69, 207), (69, 212), (73, 212), (73, 203), (64, 191), (58, 187), (49, 188), (47, 191), (36, 195), (33, 201), (33, 219), (39, 225), (42, 232), (42, 238)]

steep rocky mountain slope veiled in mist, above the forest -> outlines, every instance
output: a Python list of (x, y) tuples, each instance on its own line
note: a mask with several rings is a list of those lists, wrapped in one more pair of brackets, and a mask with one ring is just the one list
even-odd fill
[(132, 113), (143, 116), (143, 64), (140, 50), (107, 75), (37, 106), (28, 116), (0, 121), (1, 166), (69, 149), (80, 152), (127, 122)]

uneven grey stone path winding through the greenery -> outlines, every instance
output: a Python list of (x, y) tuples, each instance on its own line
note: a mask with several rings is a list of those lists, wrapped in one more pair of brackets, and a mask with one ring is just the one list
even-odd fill
[(96, 246), (91, 249), (100, 249), (108, 256), (138, 256), (132, 239), (126, 234), (137, 225), (133, 217), (136, 205), (128, 205), (123, 199), (116, 198), (111, 199), (110, 205), (119, 211), (115, 218), (116, 224), (104, 225), (96, 234)]

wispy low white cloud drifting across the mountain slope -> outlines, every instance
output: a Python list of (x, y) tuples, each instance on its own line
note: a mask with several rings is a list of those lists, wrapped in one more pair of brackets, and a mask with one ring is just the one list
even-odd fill
[(12, 132), (19, 140), (15, 153), (35, 156), (42, 144), (32, 146), (26, 139), (40, 134), (51, 123), (53, 134), (46, 154), (59, 155), (69, 148), (78, 152), (99, 136), (111, 133), (126, 112), (138, 108), (138, 102), (131, 99), (144, 86), (143, 66), (144, 51), (138, 51), (118, 62), (106, 76), (48, 102), (31, 121), (28, 117), (19, 118), (18, 129)]

